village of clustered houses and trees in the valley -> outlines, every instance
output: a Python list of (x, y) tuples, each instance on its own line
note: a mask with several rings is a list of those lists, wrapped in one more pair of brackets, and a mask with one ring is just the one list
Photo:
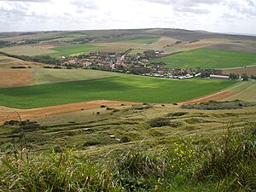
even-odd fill
[(229, 76), (221, 76), (221, 71), (215, 69), (163, 68), (165, 63), (153, 61), (162, 56), (163, 52), (145, 50), (143, 54), (137, 53), (136, 55), (131, 55), (131, 50), (128, 49), (123, 53), (93, 52), (68, 58), (61, 56), (58, 59), (61, 61), (61, 67), (67, 67), (67, 69), (95, 69), (166, 79), (191, 79), (195, 77), (229, 79)]

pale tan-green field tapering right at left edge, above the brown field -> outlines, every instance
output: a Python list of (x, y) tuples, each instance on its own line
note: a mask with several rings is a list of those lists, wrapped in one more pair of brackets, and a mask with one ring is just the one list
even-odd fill
[(48, 66), (46, 64), (38, 63), (38, 62), (30, 62), (30, 61), (22, 61), (19, 59), (15, 59), (12, 57), (8, 57), (5, 55), (0, 55), (0, 69), (10, 68), (10, 67), (43, 67)]

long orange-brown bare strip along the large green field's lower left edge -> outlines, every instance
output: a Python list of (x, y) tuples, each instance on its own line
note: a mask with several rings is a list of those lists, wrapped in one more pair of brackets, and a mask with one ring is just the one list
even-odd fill
[(136, 104), (136, 102), (115, 102), (115, 101), (92, 101), (92, 102), (76, 102), (64, 105), (50, 106), (45, 108), (32, 108), (32, 109), (17, 109), (17, 108), (6, 108), (0, 106), (0, 122), (6, 120), (18, 119), (18, 114), (22, 120), (25, 119), (37, 119), (49, 115), (55, 115), (60, 113), (70, 113), (75, 111), (80, 111), (83, 109), (91, 108), (101, 108), (101, 105), (108, 107), (117, 107), (121, 104), (131, 105)]

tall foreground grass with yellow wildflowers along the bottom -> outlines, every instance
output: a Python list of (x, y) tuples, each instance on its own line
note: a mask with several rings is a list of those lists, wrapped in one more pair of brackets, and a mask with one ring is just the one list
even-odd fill
[(139, 146), (90, 162), (72, 150), (21, 158), (14, 145), (5, 144), (1, 149), (0, 191), (256, 189), (255, 125), (227, 129), (213, 138), (180, 138), (170, 146), (148, 149)]

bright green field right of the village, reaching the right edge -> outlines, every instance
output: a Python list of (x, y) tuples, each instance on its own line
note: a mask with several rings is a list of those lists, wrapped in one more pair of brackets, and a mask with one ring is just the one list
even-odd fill
[(195, 49), (169, 55), (154, 62), (165, 62), (165, 68), (233, 68), (256, 64), (256, 54), (220, 49)]

